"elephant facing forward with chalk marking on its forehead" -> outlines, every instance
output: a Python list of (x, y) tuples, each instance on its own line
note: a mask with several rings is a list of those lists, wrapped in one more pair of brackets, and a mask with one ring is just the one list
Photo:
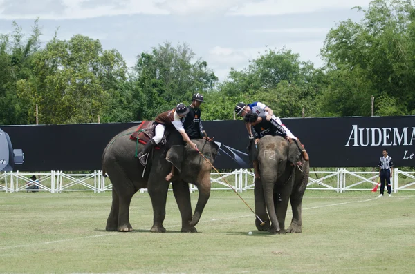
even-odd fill
[[(266, 135), (257, 144), (260, 178), (255, 179), (255, 213), (265, 224), (255, 219), (259, 231), (276, 233), (302, 232), (302, 198), (308, 183), (310, 164), (304, 161), (295, 143), (281, 136)], [(297, 165), (301, 161), (301, 166)], [(284, 228), (288, 200), (293, 219)], [(267, 213), (268, 211), (268, 213)]]

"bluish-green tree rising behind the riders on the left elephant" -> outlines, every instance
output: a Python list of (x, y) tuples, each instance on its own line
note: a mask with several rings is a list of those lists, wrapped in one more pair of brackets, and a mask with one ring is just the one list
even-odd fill
[(214, 72), (208, 63), (195, 57), (186, 44), (174, 48), (169, 42), (151, 53), (142, 52), (132, 75), (133, 84), (139, 87), (136, 92), (142, 92), (134, 96), (145, 106), (136, 113), (137, 120), (153, 119), (180, 102), (190, 101), (194, 93), (214, 88), (218, 80)]

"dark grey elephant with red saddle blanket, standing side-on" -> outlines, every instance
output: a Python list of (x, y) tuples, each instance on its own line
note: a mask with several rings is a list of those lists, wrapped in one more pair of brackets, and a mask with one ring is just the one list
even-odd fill
[[(102, 155), (102, 173), (107, 173), (113, 187), (112, 205), (106, 230), (123, 232), (133, 230), (129, 222), (131, 198), (141, 188), (147, 188), (154, 214), (151, 232), (165, 232), (163, 221), (170, 184), (165, 177), (173, 164), (176, 173), (171, 182), (181, 213), (181, 232), (197, 232), (194, 226), (199, 222), (210, 196), (210, 171), (212, 169), (210, 164), (213, 164), (219, 147), (214, 141), (194, 139), (192, 141), (199, 151), (194, 150), (187, 144), (183, 145), (184, 141), (180, 133), (170, 128), (167, 143), (160, 146), (160, 149), (150, 151), (152, 156), (150, 154), (145, 168), (135, 157), (137, 151), (142, 150), (143, 145), (129, 139), (135, 130), (136, 126), (116, 135)], [(206, 159), (203, 159), (199, 152)], [(189, 183), (196, 185), (199, 190), (199, 199), (194, 214), (190, 203)]]

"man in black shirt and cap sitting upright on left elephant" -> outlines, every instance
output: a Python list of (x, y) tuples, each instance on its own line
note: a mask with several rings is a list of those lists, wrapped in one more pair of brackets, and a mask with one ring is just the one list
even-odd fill
[(190, 139), (204, 138), (201, 109), (199, 108), (203, 102), (203, 95), (200, 93), (194, 94), (192, 97), (192, 104), (188, 107), (190, 111), (183, 119), (183, 127)]

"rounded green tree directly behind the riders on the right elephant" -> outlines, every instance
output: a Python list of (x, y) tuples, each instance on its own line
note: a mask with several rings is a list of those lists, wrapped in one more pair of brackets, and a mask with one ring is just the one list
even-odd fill
[[(319, 91), (314, 80), (319, 72), (310, 62), (299, 61), (299, 55), (283, 48), (268, 49), (248, 68), (232, 69), (228, 80), (219, 85), (219, 93), (230, 101), (226, 113), (231, 113), (238, 101), (262, 101), (282, 117), (301, 117), (315, 113), (315, 97)], [(223, 104), (223, 101), (222, 101)]]

